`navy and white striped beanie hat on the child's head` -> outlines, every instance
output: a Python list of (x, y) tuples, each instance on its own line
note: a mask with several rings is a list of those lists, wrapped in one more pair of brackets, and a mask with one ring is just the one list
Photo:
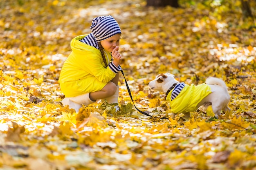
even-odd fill
[(97, 42), (121, 33), (120, 26), (111, 15), (93, 18), (90, 29)]

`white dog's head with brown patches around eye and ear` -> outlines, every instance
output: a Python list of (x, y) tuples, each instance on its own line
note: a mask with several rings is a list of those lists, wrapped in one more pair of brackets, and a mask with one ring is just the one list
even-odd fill
[(175, 80), (174, 75), (170, 73), (161, 73), (155, 77), (154, 80), (148, 83), (148, 86), (154, 91), (161, 91), (166, 93), (168, 89), (178, 81)]

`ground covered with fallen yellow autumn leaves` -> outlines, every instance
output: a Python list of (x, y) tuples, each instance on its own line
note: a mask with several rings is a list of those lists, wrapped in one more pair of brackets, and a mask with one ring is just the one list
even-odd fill
[[(256, 170), (256, 23), (239, 9), (155, 9), (143, 0), (0, 7), (0, 170)], [(98, 15), (119, 22), (132, 97), (154, 118), (135, 110), (122, 75), (121, 111), (101, 102), (79, 113), (62, 106), (58, 77), (70, 40), (90, 33)], [(187, 84), (224, 79), (231, 112), (172, 117), (164, 94), (147, 85), (166, 72)]]

